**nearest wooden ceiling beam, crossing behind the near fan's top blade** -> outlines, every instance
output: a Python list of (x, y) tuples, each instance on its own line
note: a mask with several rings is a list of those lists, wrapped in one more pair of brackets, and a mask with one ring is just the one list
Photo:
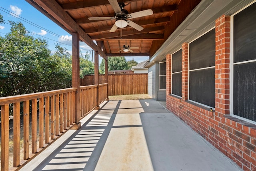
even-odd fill
[[(122, 2), (133, 2), (137, 0), (122, 0)], [(108, 0), (86, 0), (86, 1), (78, 1), (78, 2), (71, 2), (62, 4), (61, 7), (63, 10), (78, 10), (81, 8), (90, 8), (90, 7), (97, 7), (102, 5), (110, 5)]]

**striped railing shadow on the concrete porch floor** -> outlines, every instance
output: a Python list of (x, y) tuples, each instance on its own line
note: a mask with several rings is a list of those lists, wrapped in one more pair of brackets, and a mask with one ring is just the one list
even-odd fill
[(94, 170), (113, 126), (120, 103), (121, 101), (118, 101), (113, 108), (97, 111), (34, 171)]

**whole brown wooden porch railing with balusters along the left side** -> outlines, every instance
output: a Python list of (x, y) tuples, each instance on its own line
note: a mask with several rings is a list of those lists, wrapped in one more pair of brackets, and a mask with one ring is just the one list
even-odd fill
[[(99, 85), (101, 93), (98, 98), (102, 101), (107, 99), (106, 92), (103, 92), (106, 91), (106, 87), (107, 84)], [(76, 91), (77, 88), (68, 88), (0, 97), (2, 171), (12, 167), (9, 165), (9, 160), (13, 161), (13, 169), (24, 164), (74, 125)], [(97, 106), (96, 99), (97, 85), (80, 87), (80, 118)], [(12, 117), (10, 117), (11, 112)], [(10, 118), (13, 119), (13, 136), (9, 135)], [(23, 123), (21, 123), (22, 119)], [(12, 159), (9, 159), (10, 148), (12, 148), (10, 151), (13, 151)]]

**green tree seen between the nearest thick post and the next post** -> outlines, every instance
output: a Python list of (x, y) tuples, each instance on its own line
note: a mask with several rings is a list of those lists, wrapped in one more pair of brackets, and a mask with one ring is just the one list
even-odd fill
[(94, 63), (89, 60), (90, 53), (83, 54), (80, 52), (80, 78), (84, 78), (85, 75), (94, 74)]

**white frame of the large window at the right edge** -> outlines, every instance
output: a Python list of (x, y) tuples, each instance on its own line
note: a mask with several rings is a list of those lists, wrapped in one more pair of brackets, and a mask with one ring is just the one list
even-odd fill
[(230, 116), (236, 117), (238, 119), (247, 121), (252, 124), (256, 124), (256, 121), (252, 121), (250, 119), (238, 116), (234, 114), (234, 65), (239, 65), (239, 64), (246, 64), (246, 63), (251, 63), (251, 62), (256, 62), (255, 60), (248, 60), (248, 61), (242, 61), (242, 62), (235, 62), (234, 63), (234, 16), (238, 14), (239, 12), (245, 10), (247, 7), (250, 5), (256, 3), (256, 1), (251, 2), (250, 4), (244, 6), (244, 8), (238, 10), (234, 14), (230, 16)]

